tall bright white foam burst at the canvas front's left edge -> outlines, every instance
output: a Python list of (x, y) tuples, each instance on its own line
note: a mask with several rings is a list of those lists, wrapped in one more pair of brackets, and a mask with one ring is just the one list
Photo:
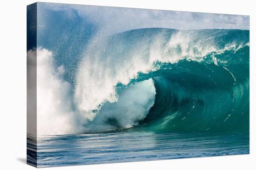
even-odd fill
[(64, 81), (63, 66), (55, 69), (53, 53), (37, 49), (37, 133), (71, 134), (79, 132), (72, 111), (71, 86)]

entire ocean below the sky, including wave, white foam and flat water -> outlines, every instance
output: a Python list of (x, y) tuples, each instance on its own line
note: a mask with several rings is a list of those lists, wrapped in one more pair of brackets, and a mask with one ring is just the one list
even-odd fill
[(249, 154), (248, 30), (144, 28), (96, 36), (81, 57), (36, 52), (28, 164)]

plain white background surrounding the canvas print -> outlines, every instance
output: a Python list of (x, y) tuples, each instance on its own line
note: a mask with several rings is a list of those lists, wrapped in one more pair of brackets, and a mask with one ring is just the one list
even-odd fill
[[(26, 162), (26, 10), (34, 0), (3, 0), (0, 4), (0, 169), (33, 169)], [(173, 159), (121, 164), (47, 168), (49, 170), (252, 170), (256, 169), (254, 0), (45, 0), (207, 13), (250, 15), (250, 155)]]

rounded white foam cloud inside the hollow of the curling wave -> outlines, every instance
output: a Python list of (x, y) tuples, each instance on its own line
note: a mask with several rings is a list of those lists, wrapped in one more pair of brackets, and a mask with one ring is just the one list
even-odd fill
[(88, 124), (87, 131), (104, 132), (136, 126), (147, 116), (154, 103), (155, 86), (152, 79), (131, 85), (119, 94), (117, 102), (107, 102), (101, 107), (95, 119)]

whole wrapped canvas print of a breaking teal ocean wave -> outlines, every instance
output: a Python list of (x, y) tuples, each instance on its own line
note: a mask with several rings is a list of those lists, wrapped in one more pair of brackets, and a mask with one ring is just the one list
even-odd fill
[(27, 6), (27, 164), (249, 154), (249, 16)]

